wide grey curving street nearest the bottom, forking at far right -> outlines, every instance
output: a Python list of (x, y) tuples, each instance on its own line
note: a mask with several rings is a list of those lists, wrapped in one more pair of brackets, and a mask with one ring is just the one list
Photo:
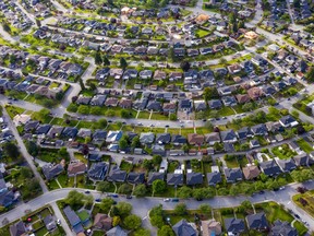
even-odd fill
[[(204, 200), (202, 202), (195, 201), (193, 199), (189, 200), (180, 200), (181, 202), (185, 202), (188, 204), (189, 209), (197, 209), (201, 203), (209, 203), (214, 209), (218, 208), (232, 208), (239, 205), (244, 200), (250, 200), (253, 203), (257, 202), (265, 202), (265, 201), (275, 201), (280, 204), (283, 204), (287, 209), (292, 210), (295, 214), (299, 214), (302, 216), (302, 220), (306, 221), (310, 224), (310, 228), (314, 229), (314, 220), (312, 216), (310, 216), (307, 213), (303, 212), (299, 208), (295, 208), (295, 205), (291, 202), (291, 198), (293, 194), (297, 193), (295, 188), (298, 186), (301, 186), (301, 184), (292, 184), (287, 186), (283, 190), (279, 191), (266, 191), (264, 194), (254, 194), (252, 197), (215, 197), (209, 200)], [(304, 186), (307, 189), (314, 188), (314, 182), (309, 181), (304, 184)], [(63, 199), (68, 196), (68, 193), (73, 190), (73, 188), (67, 188), (67, 189), (58, 189), (50, 192), (46, 192), (43, 196), (27, 202), (22, 203), (17, 208), (11, 210), (10, 212), (7, 212), (2, 215), (0, 215), (0, 222), (3, 221), (3, 219), (8, 219), (10, 222), (14, 221), (19, 217), (21, 217), (21, 214), (25, 212), (26, 210), (36, 210), (45, 204), (51, 204), (60, 199)], [(84, 189), (75, 189), (80, 192), (84, 192)], [(98, 191), (90, 191), (90, 194), (94, 196), (94, 198), (102, 198), (104, 194), (101, 194)], [(116, 199), (114, 199), (116, 200)], [(125, 197), (119, 197), (117, 198), (117, 201), (130, 201), (130, 203), (133, 205), (133, 212), (137, 215), (140, 215), (142, 219), (144, 219), (147, 215), (147, 212), (153, 206), (156, 206), (158, 204), (162, 204), (164, 209), (171, 210), (176, 206), (177, 203), (174, 202), (164, 202), (161, 198), (133, 198), (131, 200), (126, 200)]]

